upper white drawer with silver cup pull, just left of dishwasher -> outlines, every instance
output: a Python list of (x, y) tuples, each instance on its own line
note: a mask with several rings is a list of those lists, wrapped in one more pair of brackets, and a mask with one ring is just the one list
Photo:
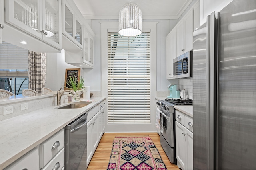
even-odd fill
[(40, 144), (40, 168), (43, 168), (64, 147), (64, 129)]

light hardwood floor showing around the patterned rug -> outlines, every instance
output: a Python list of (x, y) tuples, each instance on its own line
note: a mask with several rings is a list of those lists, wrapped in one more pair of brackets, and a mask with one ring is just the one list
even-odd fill
[(107, 170), (108, 162), (110, 159), (110, 153), (112, 150), (113, 140), (115, 136), (145, 136), (149, 135), (152, 139), (153, 143), (156, 145), (164, 164), (168, 170), (180, 170), (178, 166), (172, 164), (168, 157), (166, 156), (163, 148), (160, 144), (160, 136), (158, 133), (104, 133), (102, 136), (100, 143), (92, 156), (92, 160), (90, 161), (87, 170)]

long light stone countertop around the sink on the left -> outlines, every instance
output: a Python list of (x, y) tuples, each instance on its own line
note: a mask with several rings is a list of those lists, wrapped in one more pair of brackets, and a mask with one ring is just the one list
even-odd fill
[(0, 170), (106, 98), (94, 97), (91, 99), (94, 99), (95, 102), (78, 109), (55, 109), (58, 106), (50, 106), (0, 121)]

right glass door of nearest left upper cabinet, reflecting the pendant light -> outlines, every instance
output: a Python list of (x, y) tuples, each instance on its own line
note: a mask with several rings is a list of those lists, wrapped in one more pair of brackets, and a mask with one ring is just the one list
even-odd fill
[(61, 4), (60, 0), (46, 0), (43, 10), (43, 38), (61, 45)]

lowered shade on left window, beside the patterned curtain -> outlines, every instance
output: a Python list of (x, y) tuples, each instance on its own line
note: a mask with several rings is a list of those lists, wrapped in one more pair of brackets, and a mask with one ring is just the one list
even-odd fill
[[(2, 76), (16, 76), (14, 72), (17, 72), (17, 76), (28, 76), (28, 50), (2, 41), (0, 44), (0, 70)], [(26, 73), (24, 74), (24, 72)]]

